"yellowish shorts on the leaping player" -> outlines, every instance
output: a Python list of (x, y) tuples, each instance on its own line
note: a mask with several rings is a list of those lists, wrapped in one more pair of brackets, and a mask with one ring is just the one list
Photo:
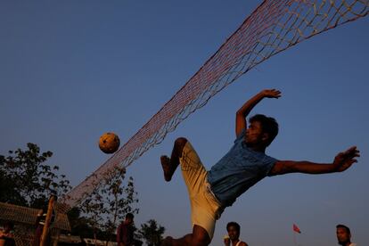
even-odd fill
[(190, 142), (184, 145), (180, 163), (191, 201), (192, 223), (204, 228), (212, 239), (216, 220), (220, 217), (222, 210), (220, 203), (210, 190), (208, 172)]

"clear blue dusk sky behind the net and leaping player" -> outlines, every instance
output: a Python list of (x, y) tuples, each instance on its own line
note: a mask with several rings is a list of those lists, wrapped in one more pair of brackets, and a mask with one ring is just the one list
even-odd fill
[[(0, 153), (37, 143), (52, 151), (77, 185), (109, 156), (97, 141), (113, 131), (125, 143), (217, 51), (261, 1), (2, 1)], [(341, 174), (266, 178), (217, 223), (242, 226), (250, 245), (335, 245), (335, 225), (369, 244), (369, 19), (348, 23), (250, 70), (185, 119), (127, 169), (139, 194), (140, 225), (154, 218), (166, 235), (191, 231), (182, 176), (162, 177), (159, 158), (178, 136), (210, 168), (234, 141), (234, 113), (263, 88), (283, 96), (253, 113), (275, 117), (280, 134), (267, 153), (281, 160), (330, 162), (357, 145), (361, 157)]]

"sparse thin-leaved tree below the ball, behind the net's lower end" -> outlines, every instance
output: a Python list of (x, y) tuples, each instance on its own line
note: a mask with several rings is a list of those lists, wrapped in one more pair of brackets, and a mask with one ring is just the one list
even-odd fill
[(128, 212), (138, 213), (138, 209), (133, 208), (138, 202), (134, 179), (130, 176), (125, 185), (125, 176), (125, 168), (114, 168), (82, 202), (80, 209), (89, 219), (89, 225), (94, 228), (94, 238), (102, 231), (103, 239), (111, 240), (119, 221), (123, 220)]

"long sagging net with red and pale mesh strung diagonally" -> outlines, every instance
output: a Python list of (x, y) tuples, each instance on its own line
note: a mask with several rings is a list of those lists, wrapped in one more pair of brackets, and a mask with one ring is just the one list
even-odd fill
[(62, 198), (64, 209), (82, 201), (118, 165), (126, 168), (159, 144), (193, 111), (262, 61), (328, 29), (368, 14), (369, 0), (266, 0), (243, 21), (185, 85), (91, 176)]

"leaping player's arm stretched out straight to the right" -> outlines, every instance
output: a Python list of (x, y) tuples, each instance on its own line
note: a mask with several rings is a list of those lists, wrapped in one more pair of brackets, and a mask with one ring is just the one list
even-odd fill
[(359, 151), (356, 146), (336, 155), (332, 163), (322, 164), (310, 161), (278, 160), (269, 173), (269, 176), (283, 175), (288, 173), (326, 174), (343, 172), (357, 162)]

